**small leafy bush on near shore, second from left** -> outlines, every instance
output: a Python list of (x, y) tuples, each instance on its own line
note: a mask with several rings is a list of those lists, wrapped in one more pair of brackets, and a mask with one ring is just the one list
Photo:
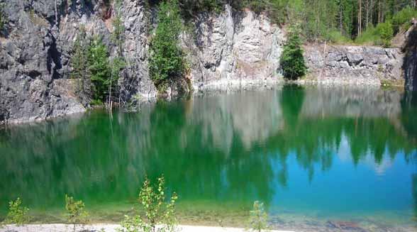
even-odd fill
[(65, 195), (65, 209), (67, 210), (67, 220), (75, 227), (79, 223), (87, 223), (89, 214), (85, 211), (85, 204), (81, 200), (74, 200), (73, 197)]

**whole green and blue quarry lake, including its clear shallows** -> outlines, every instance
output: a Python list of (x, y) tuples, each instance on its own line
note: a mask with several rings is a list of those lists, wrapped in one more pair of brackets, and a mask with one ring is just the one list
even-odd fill
[[(279, 228), (417, 228), (417, 96), (277, 87), (0, 129), (0, 215), (21, 197), (62, 221), (65, 194), (95, 221), (131, 211), (164, 174), (183, 223), (243, 226), (265, 202)], [(330, 227), (331, 228), (331, 227)]]

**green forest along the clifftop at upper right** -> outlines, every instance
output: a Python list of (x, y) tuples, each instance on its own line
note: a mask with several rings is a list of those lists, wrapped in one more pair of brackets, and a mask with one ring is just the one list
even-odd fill
[[(148, 0), (157, 4), (161, 0)], [(201, 11), (265, 12), (275, 23), (300, 23), (307, 40), (348, 42), (369, 28), (392, 19), (394, 32), (416, 16), (416, 0), (178, 0), (183, 18)], [(338, 33), (335, 33), (338, 31)], [(343, 38), (344, 37), (344, 38)]]

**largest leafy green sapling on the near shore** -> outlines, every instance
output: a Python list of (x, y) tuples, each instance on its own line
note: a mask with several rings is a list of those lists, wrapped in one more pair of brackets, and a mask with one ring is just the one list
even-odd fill
[(174, 232), (177, 226), (175, 218), (175, 201), (177, 194), (174, 192), (167, 203), (165, 201), (165, 178), (159, 177), (158, 184), (153, 187), (149, 179), (145, 179), (139, 193), (139, 203), (143, 206), (145, 217), (140, 215), (125, 216), (122, 221), (121, 231), (126, 232)]

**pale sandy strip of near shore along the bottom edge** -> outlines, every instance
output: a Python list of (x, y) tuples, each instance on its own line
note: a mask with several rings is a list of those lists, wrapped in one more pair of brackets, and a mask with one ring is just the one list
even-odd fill
[[(91, 224), (91, 225), (77, 225), (76, 231), (106, 231), (106, 232), (117, 232), (118, 228), (121, 228), (118, 224)], [(16, 231), (16, 232), (27, 232), (27, 231), (36, 231), (36, 232), (70, 232), (74, 231), (72, 224), (29, 224), (25, 226), (16, 226), (16, 225), (5, 225), (4, 228), (0, 228), (0, 231)], [(215, 227), (215, 226), (186, 226), (178, 225), (178, 232), (245, 232), (248, 231), (245, 228), (233, 228), (233, 227)], [(252, 231), (252, 230), (250, 230)], [(295, 232), (295, 231), (277, 231), (277, 230), (268, 230), (269, 232)]]

